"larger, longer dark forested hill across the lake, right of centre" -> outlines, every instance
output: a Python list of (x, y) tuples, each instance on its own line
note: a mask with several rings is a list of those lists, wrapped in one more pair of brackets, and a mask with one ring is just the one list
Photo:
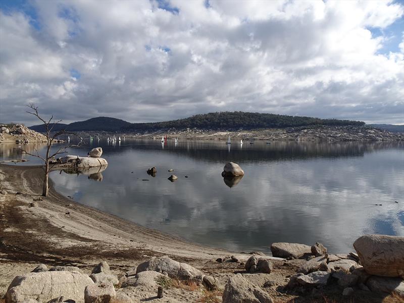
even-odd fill
[(219, 112), (204, 115), (195, 115), (185, 119), (155, 122), (155, 123), (133, 123), (124, 127), (124, 131), (145, 132), (160, 129), (175, 128), (177, 130), (186, 128), (197, 128), (206, 130), (237, 130), (237, 129), (266, 129), (285, 128), (312, 125), (355, 125), (363, 126), (365, 122), (319, 119), (312, 117), (286, 116), (275, 114), (245, 113), (245, 112)]

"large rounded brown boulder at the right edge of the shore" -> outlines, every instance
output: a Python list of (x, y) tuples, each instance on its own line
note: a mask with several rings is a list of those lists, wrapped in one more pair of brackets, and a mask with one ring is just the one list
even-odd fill
[(365, 235), (354, 247), (368, 274), (404, 278), (404, 237)]

